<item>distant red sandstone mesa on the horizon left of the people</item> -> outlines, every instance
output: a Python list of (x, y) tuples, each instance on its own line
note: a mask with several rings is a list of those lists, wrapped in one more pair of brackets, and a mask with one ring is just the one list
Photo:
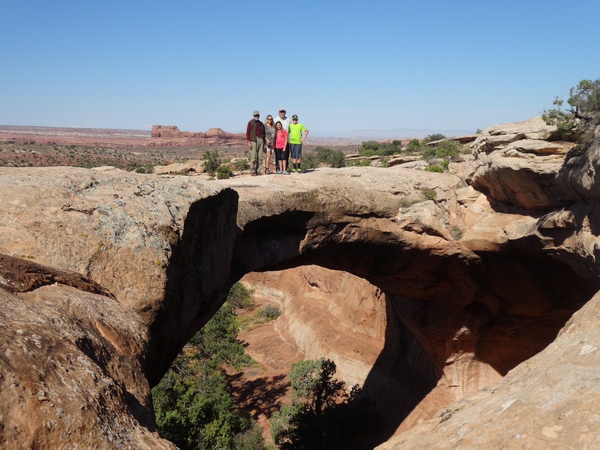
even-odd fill
[(209, 128), (206, 133), (199, 131), (179, 131), (175, 125), (152, 125), (147, 147), (168, 147), (181, 145), (245, 145), (244, 133), (227, 133), (221, 128)]

